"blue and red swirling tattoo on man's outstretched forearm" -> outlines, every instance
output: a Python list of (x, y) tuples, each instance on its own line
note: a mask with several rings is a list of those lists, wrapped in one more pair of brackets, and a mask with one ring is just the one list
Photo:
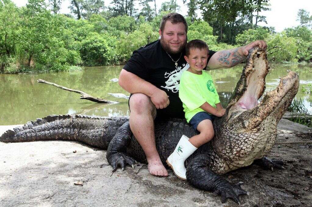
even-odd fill
[(219, 64), (225, 67), (236, 66), (238, 63), (241, 63), (245, 59), (245, 56), (241, 56), (239, 54), (238, 48), (221, 51), (219, 58), (217, 58)]

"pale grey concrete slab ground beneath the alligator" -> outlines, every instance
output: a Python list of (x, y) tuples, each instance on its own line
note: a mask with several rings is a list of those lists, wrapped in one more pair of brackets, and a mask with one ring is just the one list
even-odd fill
[[(17, 125), (15, 125), (17, 126)], [(0, 135), (13, 126), (0, 126)], [(312, 140), (312, 129), (282, 119), (277, 141)], [(224, 175), (244, 182), (241, 206), (312, 206), (312, 145), (275, 145), (270, 158), (285, 170), (256, 165)], [(75, 153), (74, 153), (75, 152)], [(0, 206), (238, 206), (169, 177), (153, 177), (146, 165), (112, 173), (103, 150), (69, 141), (0, 142)], [(81, 182), (83, 185), (75, 185)]]

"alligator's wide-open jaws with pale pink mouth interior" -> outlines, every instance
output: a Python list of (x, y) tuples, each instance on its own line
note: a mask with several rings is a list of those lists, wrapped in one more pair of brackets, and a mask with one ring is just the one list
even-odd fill
[(233, 121), (234, 117), (242, 113), (244, 114), (242, 117), (252, 120), (248, 122), (250, 125), (248, 128), (258, 126), (270, 114), (276, 117), (277, 122), (280, 120), (298, 92), (299, 76), (293, 71), (288, 72), (280, 80), (277, 88), (267, 93), (258, 103), (265, 90), (265, 77), (269, 68), (266, 52), (253, 48), (249, 52), (241, 78), (229, 100), (226, 111), (228, 121), (231, 119)]

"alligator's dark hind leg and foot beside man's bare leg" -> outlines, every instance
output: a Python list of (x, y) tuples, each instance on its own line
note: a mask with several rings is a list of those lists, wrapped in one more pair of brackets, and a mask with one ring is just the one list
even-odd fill
[(129, 121), (125, 122), (110, 141), (107, 148), (106, 159), (113, 167), (113, 172), (120, 166), (121, 171), (129, 164), (134, 168), (135, 160), (126, 154), (126, 147), (131, 140)]

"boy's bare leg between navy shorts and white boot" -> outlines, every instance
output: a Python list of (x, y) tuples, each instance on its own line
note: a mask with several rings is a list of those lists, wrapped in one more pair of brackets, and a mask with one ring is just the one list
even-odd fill
[(214, 136), (214, 130), (211, 120), (205, 119), (199, 122), (197, 130), (200, 132), (200, 134), (192, 136), (188, 141), (198, 148), (212, 140)]

